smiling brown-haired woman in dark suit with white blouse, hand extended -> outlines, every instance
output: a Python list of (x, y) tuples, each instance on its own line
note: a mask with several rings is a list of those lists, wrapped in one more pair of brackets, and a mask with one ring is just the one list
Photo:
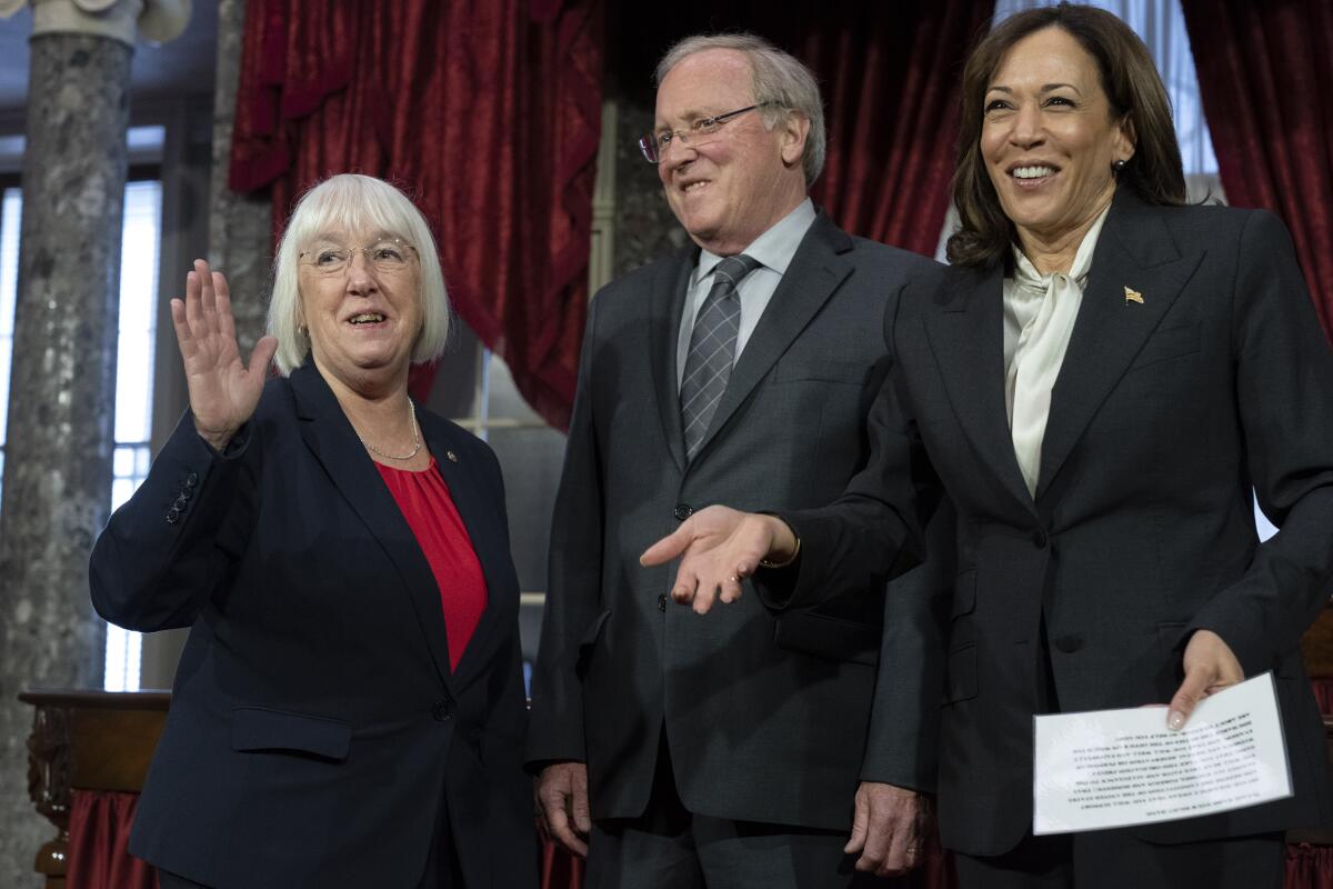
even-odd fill
[[(1300, 636), (1333, 577), (1333, 356), (1282, 224), (1186, 207), (1146, 48), (1088, 7), (1000, 24), (964, 73), (961, 229), (889, 309), (874, 458), (826, 509), (696, 513), (674, 594), (800, 608), (897, 570), (958, 510), (940, 833), (964, 886), (1278, 886), (1333, 817)], [(1260, 542), (1252, 497), (1281, 530)], [(785, 520), (785, 521), (784, 521)], [(905, 560), (904, 560), (905, 561)], [(901, 562), (900, 562), (901, 565)], [(946, 612), (946, 613), (949, 613)], [(1272, 670), (1294, 796), (1034, 837), (1038, 713), (1166, 704)]]

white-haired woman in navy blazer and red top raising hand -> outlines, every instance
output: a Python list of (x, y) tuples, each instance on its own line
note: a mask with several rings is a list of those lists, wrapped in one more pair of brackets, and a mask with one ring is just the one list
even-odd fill
[(305, 195), (248, 368), (205, 263), (172, 320), (191, 407), (91, 565), (107, 620), (191, 628), (131, 852), (168, 888), (535, 885), (500, 468), (408, 397), (448, 333), (421, 213)]

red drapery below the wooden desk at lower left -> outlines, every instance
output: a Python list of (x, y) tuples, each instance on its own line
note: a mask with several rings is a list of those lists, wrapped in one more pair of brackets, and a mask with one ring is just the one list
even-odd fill
[(129, 854), (137, 793), (71, 790), (69, 889), (157, 889), (157, 869)]

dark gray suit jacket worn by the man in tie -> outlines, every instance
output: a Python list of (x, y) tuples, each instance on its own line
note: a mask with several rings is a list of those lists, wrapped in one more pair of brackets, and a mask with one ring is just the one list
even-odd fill
[[(944, 596), (885, 597), (880, 581), (780, 613), (748, 588), (700, 617), (666, 596), (676, 566), (647, 569), (639, 556), (708, 504), (833, 500), (868, 458), (885, 305), (941, 267), (817, 217), (686, 464), (676, 343), (696, 260), (690, 249), (639, 269), (592, 304), (527, 758), (585, 761), (593, 816), (632, 817), (648, 804), (665, 724), (692, 812), (846, 829), (858, 778), (933, 784), (934, 646), (916, 632), (916, 650), (890, 640), (905, 669), (878, 653), (886, 608), (890, 626), (930, 624), (922, 610), (946, 608), (946, 585), (918, 573), (904, 586)], [(897, 614), (898, 598), (914, 610)]]

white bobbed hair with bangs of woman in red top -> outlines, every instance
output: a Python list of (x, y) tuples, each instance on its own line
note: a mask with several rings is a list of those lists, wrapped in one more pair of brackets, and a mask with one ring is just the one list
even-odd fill
[(277, 337), (277, 369), (283, 376), (305, 363), (309, 332), (301, 328), (300, 255), (320, 233), (373, 231), (401, 237), (416, 248), (421, 279), (421, 331), (412, 344), (412, 363), (433, 361), (449, 339), (449, 297), (444, 289), (440, 255), (421, 211), (393, 185), (372, 176), (341, 173), (305, 192), (273, 259), (273, 296), (268, 305), (268, 332)]

